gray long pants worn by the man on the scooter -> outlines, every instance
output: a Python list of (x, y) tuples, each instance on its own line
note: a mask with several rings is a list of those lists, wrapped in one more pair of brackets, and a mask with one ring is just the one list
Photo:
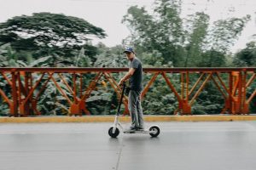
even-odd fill
[(144, 127), (143, 108), (139, 99), (141, 92), (130, 90), (129, 92), (129, 111), (131, 115), (131, 127)]

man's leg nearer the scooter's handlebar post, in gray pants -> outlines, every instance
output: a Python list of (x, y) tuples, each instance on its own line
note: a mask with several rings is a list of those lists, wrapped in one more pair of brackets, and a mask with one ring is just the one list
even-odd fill
[(131, 127), (139, 127), (138, 115), (137, 115), (137, 94), (134, 90), (129, 92), (129, 111), (131, 115)]

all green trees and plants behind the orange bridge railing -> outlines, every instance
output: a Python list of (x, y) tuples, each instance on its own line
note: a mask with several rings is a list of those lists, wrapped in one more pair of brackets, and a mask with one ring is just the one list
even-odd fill
[[(105, 32), (85, 20), (64, 14), (37, 13), (32, 16), (17, 16), (0, 24), (0, 66), (1, 67), (128, 67), (129, 62), (123, 54), (124, 45), (135, 48), (136, 55), (143, 67), (224, 67), (255, 66), (255, 42), (247, 43), (233, 57), (229, 48), (241, 34), (250, 16), (217, 20), (210, 24), (209, 15), (196, 12), (186, 19), (181, 17), (181, 0), (156, 0), (154, 13), (146, 8), (131, 6), (122, 20), (131, 30), (131, 36), (123, 45), (109, 48), (103, 43), (92, 45), (90, 37), (106, 37)], [(7, 75), (9, 77), (9, 75)], [(83, 86), (88, 87), (95, 74), (84, 74)], [(112, 74), (117, 82), (124, 73)], [(143, 76), (143, 86), (153, 75)], [(40, 77), (33, 74), (33, 84)], [(57, 74), (56, 82), (71, 99), (72, 92)], [(64, 74), (67, 83), (73, 85), (71, 74)], [(77, 84), (79, 87), (79, 77)], [(180, 75), (168, 74), (167, 77), (181, 91)], [(195, 82), (198, 75), (189, 76)], [(43, 82), (46, 78), (43, 79)], [(189, 89), (193, 83), (190, 83)], [(39, 84), (39, 87), (42, 87)], [(10, 87), (0, 77), (0, 88), (11, 98)], [(253, 94), (255, 83), (247, 89)], [(197, 88), (198, 89), (198, 88)], [(195, 91), (197, 90), (195, 89)], [(77, 89), (79, 90), (79, 88)], [(36, 89), (35, 93), (38, 93)], [(195, 92), (194, 92), (195, 93)], [(193, 96), (193, 94), (191, 94)], [(190, 96), (190, 98), (191, 98)], [(247, 97), (248, 97), (247, 96)], [(0, 98), (0, 114), (6, 116), (8, 105)], [(90, 94), (86, 106), (92, 115), (115, 114), (118, 105), (117, 94), (103, 77)], [(166, 85), (163, 77), (158, 76), (143, 99), (144, 114), (172, 115), (177, 109), (176, 96)], [(213, 82), (206, 87), (192, 106), (193, 114), (216, 114), (224, 106), (224, 98)], [(255, 98), (250, 105), (255, 112)], [(54, 82), (49, 81), (47, 88), (38, 100), (38, 110), (43, 115), (67, 115), (69, 106)], [(124, 110), (124, 107), (122, 107)]]

